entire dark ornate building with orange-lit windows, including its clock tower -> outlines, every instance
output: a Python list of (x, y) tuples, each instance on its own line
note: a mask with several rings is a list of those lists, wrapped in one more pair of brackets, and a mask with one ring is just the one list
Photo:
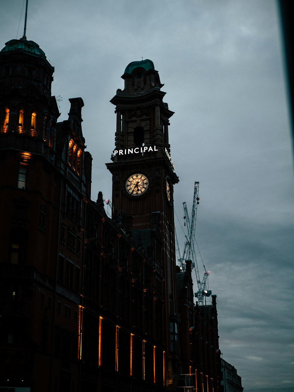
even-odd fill
[(112, 218), (91, 201), (83, 100), (57, 122), (53, 72), (25, 36), (0, 52), (0, 389), (218, 392), (216, 296), (194, 306), (191, 265), (176, 269), (158, 72), (130, 63), (111, 100)]

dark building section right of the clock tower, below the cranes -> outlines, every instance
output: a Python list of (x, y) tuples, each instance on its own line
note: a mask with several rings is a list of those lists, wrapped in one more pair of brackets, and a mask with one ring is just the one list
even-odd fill
[[(197, 391), (217, 391), (220, 387), (220, 349), (218, 345), (218, 314), (216, 295), (212, 304), (193, 304), (191, 260), (185, 272), (178, 267), (178, 320), (182, 373), (179, 385)], [(193, 375), (190, 377), (189, 375)], [(182, 389), (184, 391), (184, 389)], [(188, 391), (189, 392), (189, 391)]]

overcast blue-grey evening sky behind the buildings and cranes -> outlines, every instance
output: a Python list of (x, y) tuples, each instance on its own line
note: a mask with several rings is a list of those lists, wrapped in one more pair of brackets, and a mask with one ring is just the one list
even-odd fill
[[(1, 0), (1, 48), (22, 37), (22, 5)], [(276, 3), (29, 0), (26, 35), (55, 67), (59, 120), (69, 98), (83, 98), (95, 200), (98, 191), (111, 198), (109, 100), (130, 62), (154, 62), (175, 112), (169, 135), (181, 225), (182, 203), (190, 212), (200, 183), (196, 240), (217, 295), (223, 359), (245, 389), (293, 388), (294, 181)], [(177, 233), (182, 249), (179, 223)], [(198, 258), (203, 275), (201, 265)]]

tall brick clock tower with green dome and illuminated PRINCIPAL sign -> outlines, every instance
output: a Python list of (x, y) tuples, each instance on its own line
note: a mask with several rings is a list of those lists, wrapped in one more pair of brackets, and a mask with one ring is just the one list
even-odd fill
[[(130, 63), (122, 78), (124, 89), (111, 99), (116, 107), (115, 148), (112, 162), (106, 164), (113, 176), (113, 218), (123, 230), (132, 230), (135, 245), (143, 246), (144, 256), (153, 263), (151, 290), (160, 286), (163, 302), (160, 328), (168, 387), (172, 374), (180, 372), (173, 209), (173, 186), (179, 179), (168, 130), (174, 112), (163, 102), (163, 84), (151, 60)], [(157, 245), (152, 248), (154, 233)]]

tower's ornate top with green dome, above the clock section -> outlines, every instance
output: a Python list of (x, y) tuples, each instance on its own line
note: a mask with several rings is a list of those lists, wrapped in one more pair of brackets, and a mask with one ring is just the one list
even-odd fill
[(170, 152), (168, 125), (174, 112), (163, 102), (158, 71), (151, 60), (134, 61), (122, 78), (125, 88), (118, 89), (110, 101), (116, 105), (117, 116), (113, 162), (125, 160), (125, 153), (129, 155), (132, 149), (137, 153), (138, 148), (143, 154), (131, 154), (129, 159), (145, 159), (147, 152), (152, 152), (148, 158), (165, 156), (165, 151)]

